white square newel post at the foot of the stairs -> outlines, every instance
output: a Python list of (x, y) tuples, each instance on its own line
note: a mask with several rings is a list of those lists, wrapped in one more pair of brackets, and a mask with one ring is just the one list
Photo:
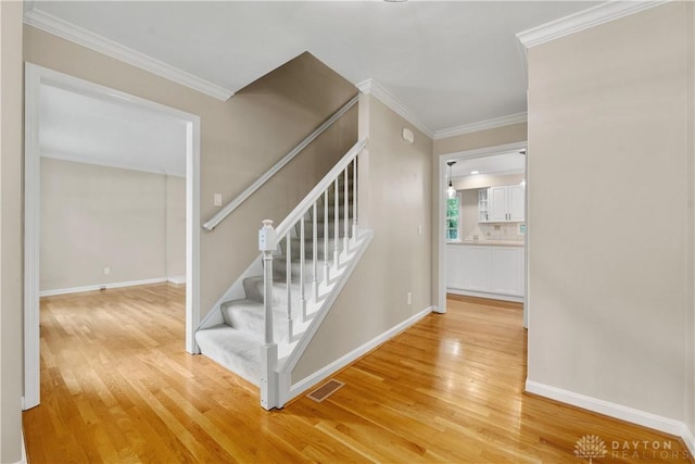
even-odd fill
[(277, 249), (277, 237), (273, 221), (263, 221), (258, 230), (258, 249), (263, 252), (263, 301), (265, 306), (265, 342), (261, 352), (261, 405), (266, 410), (278, 406), (278, 346), (273, 340), (273, 252)]

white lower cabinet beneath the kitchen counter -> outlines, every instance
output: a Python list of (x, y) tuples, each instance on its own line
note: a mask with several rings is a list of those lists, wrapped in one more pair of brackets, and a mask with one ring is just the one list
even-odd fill
[(446, 287), (450, 290), (523, 297), (523, 247), (450, 244)]

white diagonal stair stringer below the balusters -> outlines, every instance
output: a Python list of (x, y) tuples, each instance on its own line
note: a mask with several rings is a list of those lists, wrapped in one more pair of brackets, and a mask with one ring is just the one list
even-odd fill
[[(276, 371), (279, 388), (278, 407), (282, 407), (287, 402), (302, 394), (307, 388), (311, 388), (311, 386), (305, 385), (303, 380), (292, 385), (291, 374), (296, 366), (296, 363), (302, 358), (302, 354), (304, 354), (304, 351), (308, 347), (309, 342), (318, 331), (318, 328), (320, 327), (324, 318), (326, 317), (326, 315), (328, 315), (328, 312), (333, 306), (333, 303), (350, 279), (350, 276), (355, 271), (357, 263), (359, 263), (365, 251), (367, 251), (367, 248), (369, 247), (369, 243), (374, 238), (374, 230), (361, 227), (357, 231), (357, 237), (358, 240), (356, 243), (353, 243), (353, 251), (349, 255), (350, 259), (348, 260), (346, 265), (339, 269), (336, 281), (332, 284), (332, 287), (330, 288), (328, 294), (323, 299), (319, 308), (314, 313), (308, 327), (306, 327), (301, 338), (292, 349), (291, 353), (287, 358), (278, 360), (278, 367)], [(314, 385), (319, 384), (327, 376), (328, 374), (323, 377), (316, 377), (314, 379)]]

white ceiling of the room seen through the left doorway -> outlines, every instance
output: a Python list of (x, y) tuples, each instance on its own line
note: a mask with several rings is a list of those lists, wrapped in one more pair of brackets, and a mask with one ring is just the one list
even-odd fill
[(41, 156), (186, 175), (186, 125), (128, 102), (41, 85)]

